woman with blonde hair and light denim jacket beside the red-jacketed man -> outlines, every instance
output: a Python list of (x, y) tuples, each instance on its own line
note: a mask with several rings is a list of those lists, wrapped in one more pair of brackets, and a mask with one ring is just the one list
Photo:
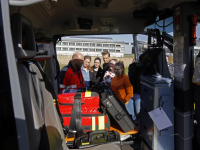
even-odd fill
[(95, 80), (95, 76), (92, 73), (93, 69), (90, 67), (90, 62), (91, 62), (91, 56), (85, 55), (84, 56), (84, 62), (81, 67), (81, 72), (83, 74), (84, 82), (85, 82), (85, 87), (92, 87), (94, 84), (93, 81)]

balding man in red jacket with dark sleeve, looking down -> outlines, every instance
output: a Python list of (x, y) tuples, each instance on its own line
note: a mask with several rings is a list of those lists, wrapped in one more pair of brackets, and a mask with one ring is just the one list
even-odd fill
[(59, 74), (60, 91), (63, 89), (78, 89), (84, 87), (84, 78), (80, 70), (84, 62), (83, 54), (76, 52), (68, 65), (63, 67)]

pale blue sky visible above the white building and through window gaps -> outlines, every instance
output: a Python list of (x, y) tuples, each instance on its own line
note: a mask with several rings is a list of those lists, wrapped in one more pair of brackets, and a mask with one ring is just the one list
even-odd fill
[[(173, 35), (173, 32), (171, 32), (169, 34)], [(124, 42), (128, 42), (128, 43), (133, 43), (132, 34), (88, 35), (88, 36), (84, 36), (84, 37), (111, 37), (114, 41), (124, 41)], [(200, 24), (197, 26), (196, 37), (197, 37), (197, 39), (200, 38)], [(147, 41), (147, 36), (139, 34), (137, 36), (137, 40), (138, 41)]]

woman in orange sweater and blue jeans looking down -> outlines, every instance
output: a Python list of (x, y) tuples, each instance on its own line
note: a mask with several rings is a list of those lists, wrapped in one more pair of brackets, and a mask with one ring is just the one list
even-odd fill
[(131, 99), (133, 97), (133, 86), (124, 71), (123, 61), (117, 62), (114, 66), (115, 77), (112, 79), (110, 87), (118, 99), (125, 104), (127, 111), (134, 119), (133, 100)]

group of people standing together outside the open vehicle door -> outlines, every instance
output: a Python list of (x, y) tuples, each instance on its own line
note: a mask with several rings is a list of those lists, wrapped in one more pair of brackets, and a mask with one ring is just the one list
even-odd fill
[[(103, 68), (100, 66), (101, 59), (99, 57), (94, 59), (94, 65), (91, 66), (91, 56), (83, 56), (79, 52), (74, 53), (72, 60), (60, 71), (60, 90), (93, 87), (95, 83), (104, 82), (110, 85), (114, 94), (135, 120), (133, 86), (125, 74), (124, 63), (117, 59), (110, 60), (109, 52), (102, 52), (102, 56)], [(139, 98), (137, 97), (137, 99)], [(136, 110), (137, 113), (139, 112)]]

